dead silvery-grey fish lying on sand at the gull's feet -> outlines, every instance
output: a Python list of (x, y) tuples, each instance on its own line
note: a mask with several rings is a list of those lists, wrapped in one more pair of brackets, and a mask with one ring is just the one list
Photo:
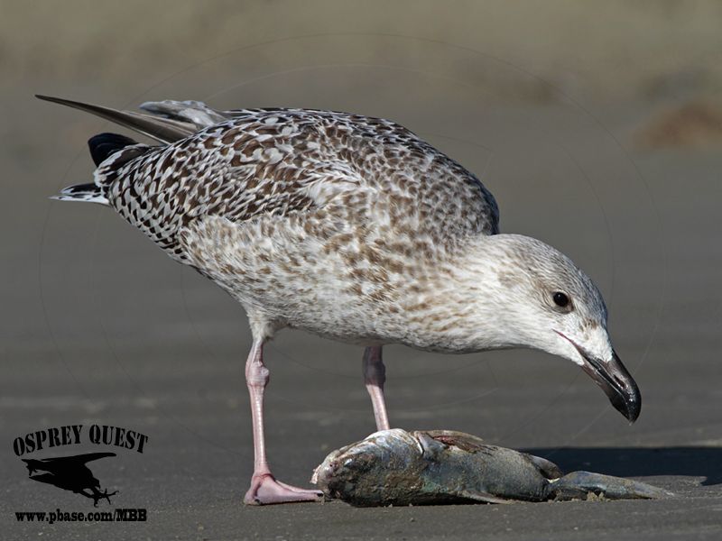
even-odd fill
[(311, 482), (327, 497), (358, 507), (671, 496), (643, 482), (600, 473), (564, 475), (548, 460), (487, 445), (463, 432), (399, 428), (333, 451)]

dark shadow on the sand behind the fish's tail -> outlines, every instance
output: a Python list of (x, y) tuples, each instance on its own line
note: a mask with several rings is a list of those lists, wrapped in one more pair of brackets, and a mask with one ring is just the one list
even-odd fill
[(722, 483), (722, 447), (567, 447), (523, 449), (556, 463), (564, 472), (588, 470), (617, 477), (684, 475)]

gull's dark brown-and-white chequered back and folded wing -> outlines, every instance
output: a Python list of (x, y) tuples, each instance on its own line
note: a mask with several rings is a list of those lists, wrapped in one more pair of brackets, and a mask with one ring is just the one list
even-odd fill
[[(244, 222), (302, 213), (354, 189), (383, 199), (392, 227), (413, 226), (441, 237), (496, 232), (495, 201), (481, 183), (398, 124), (298, 109), (215, 117), (202, 111), (199, 120), (194, 102), (182, 103), (181, 118), (195, 119), (199, 127), (218, 116), (237, 116), (166, 146), (128, 147), (96, 173), (110, 205), (175, 259), (189, 259), (179, 245), (180, 229), (203, 216)], [(373, 209), (360, 206), (374, 202), (359, 197), (357, 204), (338, 218), (365, 225)]]

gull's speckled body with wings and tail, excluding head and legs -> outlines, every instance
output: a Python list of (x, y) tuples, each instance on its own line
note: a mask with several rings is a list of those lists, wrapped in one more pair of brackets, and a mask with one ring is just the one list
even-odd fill
[(113, 207), (236, 298), (255, 336), (294, 326), (356, 344), (467, 348), (476, 324), (459, 261), (498, 232), (496, 203), (403, 126), (306, 109), (143, 104), (152, 116), (52, 101), (164, 142), (109, 152), (97, 189), (59, 198)]

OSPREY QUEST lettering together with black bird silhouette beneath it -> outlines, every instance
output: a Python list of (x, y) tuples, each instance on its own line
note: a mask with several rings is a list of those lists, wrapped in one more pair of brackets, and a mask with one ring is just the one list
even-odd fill
[(83, 425), (68, 425), (18, 436), (13, 441), (13, 450), (25, 463), (32, 481), (48, 483), (64, 491), (80, 494), (93, 500), (93, 506), (97, 507), (100, 500), (106, 500), (110, 504), (110, 497), (115, 496), (118, 491), (111, 492), (102, 488), (88, 463), (117, 456), (116, 453), (86, 453), (49, 458), (23, 458), (23, 455), (43, 449), (83, 444), (115, 446), (143, 453), (147, 443), (148, 436), (120, 426), (91, 425), (86, 430)]

